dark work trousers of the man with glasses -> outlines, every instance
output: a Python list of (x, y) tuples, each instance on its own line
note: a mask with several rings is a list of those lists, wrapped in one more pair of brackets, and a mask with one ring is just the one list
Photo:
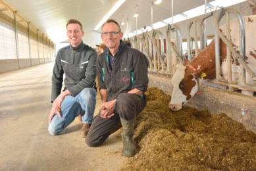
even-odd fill
[(146, 97), (142, 99), (136, 94), (122, 93), (118, 95), (115, 103), (115, 115), (109, 119), (101, 118), (101, 112), (95, 116), (90, 130), (86, 135), (86, 143), (90, 147), (98, 147), (122, 125), (119, 116), (124, 120), (132, 120), (144, 109)]

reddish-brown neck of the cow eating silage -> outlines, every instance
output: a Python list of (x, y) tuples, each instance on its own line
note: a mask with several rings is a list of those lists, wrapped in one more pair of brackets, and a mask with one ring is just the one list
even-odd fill
[[(220, 57), (226, 57), (226, 45), (220, 39)], [(191, 62), (191, 65), (196, 69), (196, 75), (201, 78), (202, 72), (205, 73), (203, 79), (216, 78), (215, 70), (215, 41), (211, 43)]]

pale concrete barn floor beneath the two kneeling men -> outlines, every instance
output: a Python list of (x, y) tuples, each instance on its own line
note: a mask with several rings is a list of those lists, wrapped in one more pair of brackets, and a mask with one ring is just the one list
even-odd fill
[[(0, 74), (0, 170), (119, 170), (127, 161), (120, 130), (97, 148), (79, 137), (77, 119), (48, 134), (53, 64)], [(100, 103), (97, 95), (95, 114)]]

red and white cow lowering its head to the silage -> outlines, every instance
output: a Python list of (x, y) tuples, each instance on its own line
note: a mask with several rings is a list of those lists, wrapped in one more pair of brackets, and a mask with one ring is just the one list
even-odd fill
[[(245, 58), (246, 63), (256, 72), (256, 15), (244, 16), (245, 24)], [(225, 26), (220, 28), (222, 32)], [(239, 51), (239, 26), (238, 20), (230, 22), (231, 39), (236, 50)], [(224, 79), (227, 79), (227, 64), (226, 64), (226, 45), (220, 39), (220, 58), (221, 58), (221, 74)], [(236, 64), (232, 59), (232, 80), (238, 81), (240, 72), (239, 64)], [(199, 85), (204, 80), (213, 79), (215, 74), (215, 45), (214, 40), (190, 63), (184, 61), (184, 65), (177, 65), (176, 72), (172, 76), (172, 99), (169, 103), (169, 108), (177, 111), (182, 108), (184, 103), (187, 103), (199, 89)], [(246, 83), (256, 84), (251, 76), (246, 72)], [(247, 95), (253, 95), (253, 92), (242, 91)]]

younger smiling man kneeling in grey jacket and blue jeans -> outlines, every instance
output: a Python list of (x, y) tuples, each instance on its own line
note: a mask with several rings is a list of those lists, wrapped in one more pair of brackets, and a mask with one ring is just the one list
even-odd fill
[[(64, 130), (76, 116), (81, 115), (83, 126), (80, 136), (86, 137), (96, 103), (95, 77), (97, 52), (84, 44), (84, 31), (78, 20), (69, 20), (66, 35), (70, 45), (57, 53), (53, 68), (51, 102), (53, 108), (49, 115), (49, 134), (57, 135)], [(64, 90), (61, 92), (63, 85)], [(80, 115), (81, 114), (81, 115)]]

